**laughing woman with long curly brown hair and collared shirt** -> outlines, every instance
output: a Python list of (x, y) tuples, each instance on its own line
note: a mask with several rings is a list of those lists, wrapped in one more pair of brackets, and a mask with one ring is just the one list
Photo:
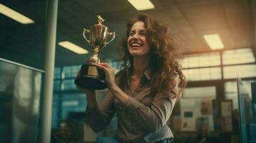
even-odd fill
[(109, 90), (102, 104), (98, 106), (95, 91), (77, 87), (87, 95), (90, 127), (100, 132), (117, 112), (119, 142), (171, 142), (166, 122), (186, 80), (169, 29), (139, 14), (127, 24), (122, 48), (124, 63), (118, 74), (109, 64), (98, 64)]

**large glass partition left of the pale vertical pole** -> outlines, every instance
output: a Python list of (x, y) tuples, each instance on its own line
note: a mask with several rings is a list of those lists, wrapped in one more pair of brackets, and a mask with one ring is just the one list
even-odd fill
[(42, 71), (0, 59), (0, 142), (36, 143)]

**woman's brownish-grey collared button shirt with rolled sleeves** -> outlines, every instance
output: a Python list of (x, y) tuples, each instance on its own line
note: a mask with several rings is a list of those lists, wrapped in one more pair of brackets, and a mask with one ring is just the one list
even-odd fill
[[(156, 142), (172, 138), (166, 125), (176, 102), (169, 92), (151, 92), (150, 76), (146, 70), (134, 92), (127, 84), (123, 92), (128, 95), (126, 104), (120, 104), (108, 91), (103, 102), (95, 109), (87, 108), (87, 121), (94, 132), (108, 126), (115, 112), (118, 115), (118, 130), (115, 137), (120, 142)], [(176, 86), (177, 87), (177, 86)]]

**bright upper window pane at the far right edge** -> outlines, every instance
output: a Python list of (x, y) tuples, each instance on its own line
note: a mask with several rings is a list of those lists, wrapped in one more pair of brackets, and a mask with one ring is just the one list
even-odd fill
[(223, 51), (223, 64), (246, 64), (255, 62), (252, 49), (232, 49)]

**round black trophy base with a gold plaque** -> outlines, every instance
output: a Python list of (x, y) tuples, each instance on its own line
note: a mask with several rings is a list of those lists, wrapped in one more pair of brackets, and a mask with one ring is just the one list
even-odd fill
[(108, 87), (105, 82), (105, 74), (95, 64), (83, 64), (80, 69), (80, 77), (75, 79), (77, 86), (86, 89), (106, 89)]

